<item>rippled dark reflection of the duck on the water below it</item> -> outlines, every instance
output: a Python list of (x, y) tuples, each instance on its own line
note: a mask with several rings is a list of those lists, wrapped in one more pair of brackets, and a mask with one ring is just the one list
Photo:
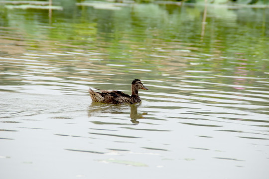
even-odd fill
[[(112, 118), (117, 118), (117, 114), (125, 114), (127, 111), (130, 111), (130, 118), (134, 125), (139, 124), (138, 119), (145, 118), (144, 115), (147, 112), (143, 112), (141, 114), (137, 114), (137, 107), (139, 103), (136, 104), (122, 104), (122, 105), (115, 105), (115, 104), (106, 104), (101, 102), (92, 102), (91, 105), (88, 107), (88, 116), (108, 116)], [(131, 110), (130, 110), (131, 109)], [(107, 114), (106, 114), (107, 113)], [(104, 115), (105, 114), (105, 115)], [(112, 122), (112, 121), (107, 121)]]

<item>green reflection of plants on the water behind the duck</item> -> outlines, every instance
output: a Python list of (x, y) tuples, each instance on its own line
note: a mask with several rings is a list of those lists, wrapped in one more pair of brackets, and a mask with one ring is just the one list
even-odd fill
[[(21, 75), (30, 69), (37, 77), (77, 78), (72, 83), (126, 84), (126, 79), (142, 78), (184, 85), (183, 77), (205, 89), (267, 86), (257, 84), (268, 79), (266, 9), (214, 6), (207, 9), (204, 23), (204, 6), (199, 5), (130, 4), (120, 10), (104, 10), (69, 3), (51, 17), (40, 9), (0, 10), (0, 53), (8, 61), (1, 64), (3, 71)], [(27, 63), (27, 68), (10, 64), (8, 59), (18, 57), (34, 62)], [(44, 69), (40, 75), (40, 69), (36, 70), (40, 66), (55, 69)], [(18, 74), (11, 75), (12, 80), (10, 74), (4, 74), (2, 84), (21, 84)]]

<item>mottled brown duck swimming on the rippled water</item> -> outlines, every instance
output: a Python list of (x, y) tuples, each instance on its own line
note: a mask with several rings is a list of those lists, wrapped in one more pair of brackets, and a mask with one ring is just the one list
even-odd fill
[(134, 79), (132, 82), (132, 95), (126, 94), (119, 90), (100, 90), (100, 92), (96, 92), (93, 89), (89, 88), (89, 93), (94, 102), (104, 102), (110, 104), (123, 104), (129, 103), (134, 104), (141, 102), (141, 99), (138, 95), (138, 89), (149, 90), (146, 88), (142, 82), (138, 79)]

